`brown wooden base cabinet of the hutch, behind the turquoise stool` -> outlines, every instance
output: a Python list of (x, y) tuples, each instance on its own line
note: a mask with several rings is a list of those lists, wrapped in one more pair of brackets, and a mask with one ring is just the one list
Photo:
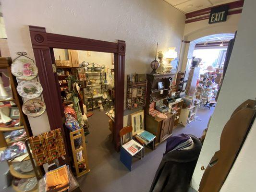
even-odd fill
[(175, 115), (167, 114), (167, 119), (153, 118), (148, 114), (145, 114), (145, 116), (146, 131), (156, 135), (155, 145), (158, 145), (171, 136)]

